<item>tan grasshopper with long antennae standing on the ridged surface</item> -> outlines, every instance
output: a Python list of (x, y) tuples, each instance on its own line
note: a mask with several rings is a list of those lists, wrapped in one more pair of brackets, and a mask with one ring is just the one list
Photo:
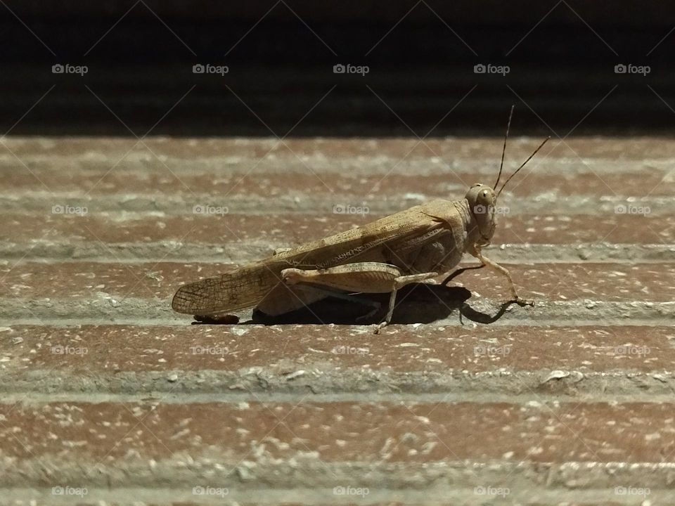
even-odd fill
[[(432, 200), (359, 228), (277, 250), (235, 271), (188, 283), (174, 295), (173, 309), (198, 319), (217, 320), (255, 306), (266, 315), (278, 316), (326, 297), (390, 293), (387, 315), (376, 329), (379, 332), (391, 321), (397, 290), (410, 283), (435, 283), (433, 278), (455, 268), (465, 253), (480, 264), (458, 269), (443, 284), (468, 269), (489, 266), (506, 277), (514, 302), (532, 305), (518, 296), (508, 270), (482, 253), (494, 235), (501, 191), (550, 138), (496, 191), (512, 115), (513, 107), (494, 186), (475, 183), (463, 200)], [(378, 309), (379, 305), (359, 320), (370, 318)]]

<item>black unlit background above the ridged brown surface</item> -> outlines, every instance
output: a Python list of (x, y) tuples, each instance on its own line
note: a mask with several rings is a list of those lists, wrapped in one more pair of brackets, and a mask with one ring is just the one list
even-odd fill
[(499, 136), (515, 103), (515, 135), (671, 134), (674, 27), (665, 2), (3, 0), (0, 131)]

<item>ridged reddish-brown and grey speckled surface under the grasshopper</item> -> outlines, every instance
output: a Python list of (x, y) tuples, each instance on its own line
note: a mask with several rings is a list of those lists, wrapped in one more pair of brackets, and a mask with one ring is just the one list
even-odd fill
[(491, 184), (501, 138), (3, 143), (0, 504), (675, 502), (674, 141), (551, 140), (487, 250), (536, 305), (491, 318), (506, 284), (473, 271), (380, 335), (170, 299)]

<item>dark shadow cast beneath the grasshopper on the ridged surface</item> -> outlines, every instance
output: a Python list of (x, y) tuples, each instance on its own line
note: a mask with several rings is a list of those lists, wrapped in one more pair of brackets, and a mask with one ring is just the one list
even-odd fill
[[(413, 283), (397, 293), (396, 309), (391, 323), (432, 323), (448, 318), (453, 313), (477, 323), (489, 324), (499, 320), (508, 306), (515, 301), (501, 304), (494, 314), (473, 309), (468, 303), (471, 292), (464, 287), (447, 287)], [(354, 325), (379, 323), (387, 312), (389, 294), (339, 294), (309, 304), (279, 316), (269, 316), (254, 311), (252, 318), (242, 324), (281, 325), (292, 323)], [(364, 318), (366, 316), (366, 318)], [(203, 320), (199, 323), (235, 323), (232, 321)], [(194, 324), (199, 324), (194, 322)], [(463, 322), (462, 322), (463, 323)]]

